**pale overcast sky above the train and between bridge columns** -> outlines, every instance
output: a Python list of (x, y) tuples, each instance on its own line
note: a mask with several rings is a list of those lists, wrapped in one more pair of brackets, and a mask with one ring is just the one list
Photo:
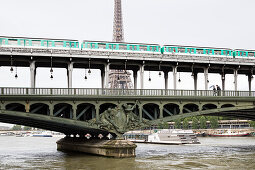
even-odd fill
[[(0, 5), (1, 36), (112, 40), (114, 0), (0, 0)], [(124, 38), (160, 45), (255, 49), (254, 6), (254, 0), (122, 0)], [(1, 87), (30, 86), (29, 68), (17, 68), (17, 79), (9, 70), (0, 67)], [(145, 88), (164, 88), (163, 76), (150, 74), (151, 82), (145, 73)], [(178, 89), (194, 88), (190, 75), (178, 74), (182, 80)], [(221, 85), (218, 74), (209, 74), (209, 81), (209, 86)], [(234, 89), (233, 81), (233, 75), (226, 76), (227, 90)], [(99, 70), (92, 70), (87, 81), (84, 70), (74, 70), (73, 87), (99, 88), (100, 82)], [(238, 90), (248, 90), (247, 76), (240, 75), (238, 82)], [(38, 68), (36, 87), (67, 87), (66, 70), (55, 68), (50, 80), (49, 68)], [(204, 89), (203, 74), (198, 75), (198, 89)]]

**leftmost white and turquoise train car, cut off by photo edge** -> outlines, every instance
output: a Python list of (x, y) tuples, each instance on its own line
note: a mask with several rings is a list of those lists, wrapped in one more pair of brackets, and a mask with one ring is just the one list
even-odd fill
[(0, 37), (0, 46), (40, 47), (40, 48), (59, 47), (79, 49), (79, 41), (65, 39), (26, 38), (26, 37)]

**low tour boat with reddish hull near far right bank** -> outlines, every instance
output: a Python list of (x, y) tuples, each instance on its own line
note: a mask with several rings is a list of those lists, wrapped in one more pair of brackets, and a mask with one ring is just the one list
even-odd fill
[(249, 133), (247, 132), (240, 132), (237, 130), (217, 130), (214, 131), (211, 134), (208, 134), (208, 136), (213, 136), (213, 137), (240, 137), (240, 136), (247, 136)]

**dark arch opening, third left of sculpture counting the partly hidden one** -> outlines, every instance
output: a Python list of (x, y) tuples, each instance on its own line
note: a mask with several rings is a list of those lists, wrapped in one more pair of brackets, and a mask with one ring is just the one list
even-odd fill
[(73, 118), (73, 106), (67, 103), (54, 105), (53, 116), (62, 118)]

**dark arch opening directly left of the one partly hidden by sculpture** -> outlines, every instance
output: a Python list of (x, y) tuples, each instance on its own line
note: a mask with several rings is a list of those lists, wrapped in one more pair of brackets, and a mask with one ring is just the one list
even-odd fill
[(77, 120), (86, 121), (96, 117), (95, 105), (91, 103), (80, 103), (77, 105)]

